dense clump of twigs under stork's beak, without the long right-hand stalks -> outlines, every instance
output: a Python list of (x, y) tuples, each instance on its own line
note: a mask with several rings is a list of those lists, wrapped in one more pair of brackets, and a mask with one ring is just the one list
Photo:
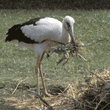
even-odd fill
[(66, 64), (68, 62), (70, 56), (72, 56), (72, 57), (78, 56), (78, 57), (82, 58), (83, 60), (87, 61), (87, 59), (81, 55), (80, 49), (84, 50), (84, 52), (86, 54), (86, 49), (79, 46), (78, 43), (76, 43), (75, 46), (73, 46), (72, 44), (59, 45), (59, 46), (53, 47), (49, 51), (47, 51), (47, 58), (50, 57), (50, 55), (53, 53), (62, 55), (61, 59), (57, 62), (57, 65), (60, 64), (64, 60), (65, 60), (65, 62), (62, 65)]

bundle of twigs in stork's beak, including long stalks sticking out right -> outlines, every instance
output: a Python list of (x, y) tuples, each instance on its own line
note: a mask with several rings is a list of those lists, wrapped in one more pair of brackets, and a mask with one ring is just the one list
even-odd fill
[[(86, 34), (90, 33), (90, 32), (97, 32), (98, 30), (94, 30), (94, 31), (87, 31), (84, 35), (82, 35), (82, 37), (84, 37)], [(47, 51), (47, 58), (50, 56), (50, 54), (52, 53), (57, 53), (59, 55), (63, 54), (63, 57), (57, 62), (57, 64), (60, 64), (62, 61), (66, 60), (64, 64), (66, 64), (69, 60), (69, 57), (80, 57), (82, 58), (84, 61), (88, 61), (84, 56), (81, 55), (80, 50), (83, 50), (86, 56), (86, 49), (85, 46), (91, 46), (93, 44), (96, 44), (98, 42), (101, 41), (108, 41), (108, 39), (104, 38), (104, 39), (99, 39), (96, 42), (92, 42), (92, 43), (88, 43), (84, 46), (84, 43), (82, 43), (82, 41), (80, 40), (82, 37), (76, 39), (76, 45), (73, 46), (72, 44), (67, 44), (67, 45), (60, 45), (57, 48), (51, 48), (49, 51)], [(82, 44), (82, 45), (80, 45)], [(88, 50), (90, 51), (90, 50)]]

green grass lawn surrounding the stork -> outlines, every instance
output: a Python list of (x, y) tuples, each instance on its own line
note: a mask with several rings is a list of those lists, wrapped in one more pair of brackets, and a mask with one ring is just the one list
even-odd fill
[[(0, 85), (5, 88), (0, 90), (0, 97), (11, 96), (15, 85), (22, 79), (29, 77), (23, 83), (36, 84), (35, 64), (36, 56), (32, 49), (19, 48), (17, 44), (5, 43), (6, 32), (14, 24), (23, 23), (31, 18), (49, 16), (62, 21), (62, 18), (70, 15), (75, 19), (75, 39), (84, 43), (82, 58), (70, 58), (68, 63), (57, 65), (61, 57), (57, 54), (51, 55), (49, 60), (45, 57), (43, 61), (43, 72), (46, 85), (64, 85), (74, 83), (76, 79), (81, 80), (89, 74), (85, 69), (93, 72), (101, 72), (110, 67), (110, 10), (80, 11), (80, 10), (0, 10)], [(101, 41), (99, 41), (101, 40)], [(98, 42), (99, 41), (99, 42)], [(97, 42), (97, 43), (96, 43)], [(93, 44), (92, 44), (93, 43)], [(91, 44), (90, 46), (87, 46)], [(110, 69), (110, 68), (109, 68)], [(12, 86), (15, 84), (14, 86)], [(34, 88), (35, 89), (35, 88)], [(17, 90), (21, 97), (26, 91)]]

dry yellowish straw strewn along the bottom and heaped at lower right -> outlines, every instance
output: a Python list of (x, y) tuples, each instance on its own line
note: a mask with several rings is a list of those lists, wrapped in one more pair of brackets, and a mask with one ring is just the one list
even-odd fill
[[(56, 110), (108, 110), (110, 109), (110, 71), (103, 70), (100, 74), (91, 72), (91, 75), (84, 77), (85, 83), (77, 80), (67, 88), (63, 88), (61, 93), (53, 97), (43, 98), (53, 109)], [(52, 86), (51, 86), (52, 88)], [(55, 88), (55, 89), (54, 89)], [(61, 86), (53, 86), (53, 92)], [(52, 91), (51, 90), (51, 91)], [(20, 100), (16, 97), (3, 98), (0, 102), (8, 103), (15, 108), (28, 108), (30, 110), (48, 110), (49, 108), (35, 95), (30, 94), (30, 98)]]

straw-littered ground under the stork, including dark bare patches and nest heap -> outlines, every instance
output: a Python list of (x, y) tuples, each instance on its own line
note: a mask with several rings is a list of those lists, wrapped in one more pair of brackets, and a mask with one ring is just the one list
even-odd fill
[[(76, 81), (67, 87), (51, 85), (52, 97), (37, 96), (26, 84), (14, 86), (13, 95), (0, 98), (0, 110), (109, 110), (110, 71), (90, 73), (92, 75), (84, 77), (82, 83)], [(0, 90), (5, 87), (1, 85)]]

